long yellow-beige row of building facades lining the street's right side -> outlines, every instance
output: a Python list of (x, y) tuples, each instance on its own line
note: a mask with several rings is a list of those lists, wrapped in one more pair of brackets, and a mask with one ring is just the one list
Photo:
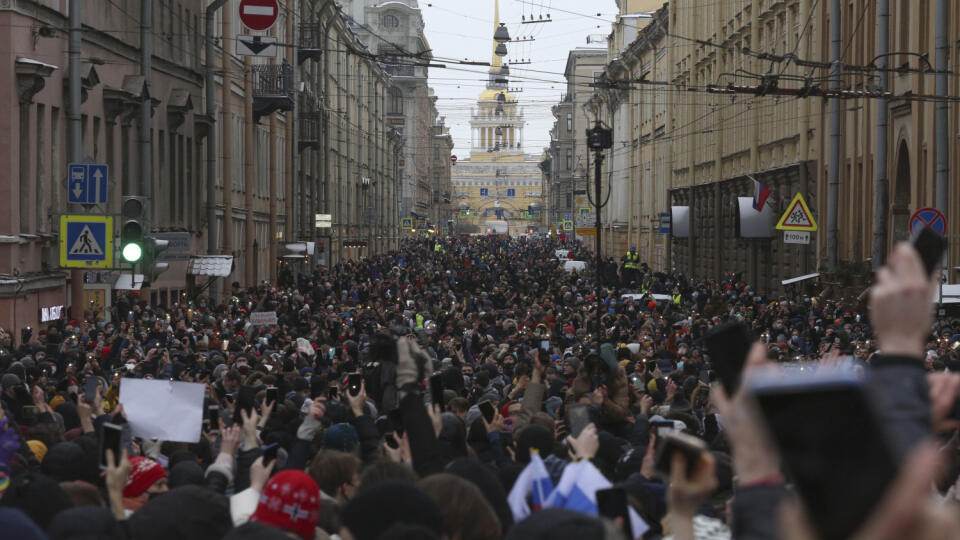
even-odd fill
[[(881, 99), (876, 69), (878, 4), (844, 3), (833, 17), (845, 49), (840, 86), (873, 92), (840, 102), (840, 130), (833, 138), (840, 155), (840, 267), (869, 270), (863, 261), (874, 257), (875, 240), (882, 243), (877, 253), (888, 251), (908, 236), (911, 213), (936, 202), (936, 74), (922, 60), (935, 57), (936, 4), (889, 2), (889, 50), (898, 54), (888, 63), (899, 69), (889, 74), (888, 99)], [(655, 268), (711, 278), (742, 273), (768, 291), (778, 290), (784, 279), (828, 269), (830, 100), (795, 94), (830, 86), (830, 5), (673, 0), (647, 25), (638, 25), (626, 48), (614, 53), (622, 40), (611, 38), (594, 101), (614, 130), (605, 166), (612, 199), (630, 203), (614, 204), (604, 218), (605, 249), (616, 254), (636, 244)], [(948, 12), (947, 42), (955, 43), (960, 10), (949, 6)], [(952, 70), (958, 60), (951, 52)], [(948, 95), (958, 91), (955, 79), (948, 77)], [(794, 95), (777, 95), (784, 89)], [(889, 117), (883, 152), (877, 147), (881, 107)], [(956, 131), (957, 115), (949, 103), (948, 133)], [(955, 144), (952, 135), (948, 147)], [(950, 152), (949, 170), (956, 170), (958, 159)], [(776, 231), (769, 238), (742, 237), (737, 201), (752, 197), (754, 180), (773, 192), (767, 204), (774, 220), (795, 194), (805, 197), (820, 225), (809, 245), (786, 244)], [(949, 219), (950, 210), (960, 207), (958, 195), (948, 192), (948, 234), (960, 230)], [(658, 234), (658, 217), (672, 207), (689, 211), (689, 236)], [(952, 267), (960, 250), (951, 247), (950, 255)]]

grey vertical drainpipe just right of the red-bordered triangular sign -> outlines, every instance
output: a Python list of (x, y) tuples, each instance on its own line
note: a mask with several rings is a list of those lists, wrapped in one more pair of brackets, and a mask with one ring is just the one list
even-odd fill
[[(840, 0), (830, 0), (830, 82), (839, 89), (840, 80)], [(827, 189), (827, 270), (837, 268), (837, 198), (840, 196), (840, 99), (830, 100), (830, 178)]]

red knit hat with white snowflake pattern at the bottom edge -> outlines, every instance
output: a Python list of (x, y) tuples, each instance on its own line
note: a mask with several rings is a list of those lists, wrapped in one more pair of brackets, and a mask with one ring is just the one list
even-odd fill
[(290, 469), (275, 474), (260, 495), (250, 521), (313, 540), (320, 510), (320, 488), (307, 473)]

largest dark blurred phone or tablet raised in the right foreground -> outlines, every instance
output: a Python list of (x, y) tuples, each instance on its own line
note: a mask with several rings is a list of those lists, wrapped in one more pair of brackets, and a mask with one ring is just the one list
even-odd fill
[(897, 475), (864, 383), (851, 372), (763, 370), (750, 386), (819, 536), (850, 537)]

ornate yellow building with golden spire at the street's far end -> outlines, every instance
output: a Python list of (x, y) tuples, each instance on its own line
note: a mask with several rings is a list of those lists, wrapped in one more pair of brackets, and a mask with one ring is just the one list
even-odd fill
[[(494, 30), (499, 11), (495, 1)], [(511, 234), (542, 224), (541, 160), (523, 152), (524, 111), (509, 91), (510, 67), (497, 47), (494, 41), (487, 87), (471, 109), (470, 158), (457, 162), (451, 175), (453, 219), (461, 233), (487, 232), (488, 221), (506, 221)]]

